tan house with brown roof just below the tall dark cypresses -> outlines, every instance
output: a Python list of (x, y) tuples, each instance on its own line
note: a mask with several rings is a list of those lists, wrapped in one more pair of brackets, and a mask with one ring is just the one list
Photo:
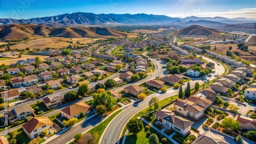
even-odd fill
[(178, 100), (174, 103), (176, 112), (188, 116), (196, 121), (204, 116), (204, 107), (188, 100)]

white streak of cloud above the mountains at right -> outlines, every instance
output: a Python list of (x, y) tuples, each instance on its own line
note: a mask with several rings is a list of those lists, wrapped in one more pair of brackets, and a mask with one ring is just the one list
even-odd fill
[(225, 12), (189, 11), (187, 13), (174, 13), (174, 14), (166, 14), (166, 15), (170, 17), (181, 17), (181, 18), (188, 17), (188, 16), (198, 16), (198, 17), (222, 16), (227, 18), (236, 18), (236, 17), (256, 18), (256, 8), (229, 10)]

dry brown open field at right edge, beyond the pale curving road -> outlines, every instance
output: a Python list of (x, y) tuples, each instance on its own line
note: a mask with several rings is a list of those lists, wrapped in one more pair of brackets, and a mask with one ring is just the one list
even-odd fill
[(244, 52), (244, 51), (241, 51), (240, 49), (238, 49), (238, 46), (237, 44), (210, 44), (211, 45), (211, 50), (214, 50), (214, 46), (216, 45), (217, 47), (217, 51), (216, 52), (221, 52), (223, 53), (224, 55), (226, 55), (227, 51), (229, 50), (229, 46), (232, 46), (232, 52), (234, 51), (237, 51), (240, 53), (240, 58), (246, 60), (246, 61), (249, 61), (251, 63), (255, 63), (256, 62), (256, 56), (254, 55), (251, 55), (249, 53), (256, 53), (256, 46), (248, 46), (248, 50), (249, 50), (249, 53), (247, 52)]

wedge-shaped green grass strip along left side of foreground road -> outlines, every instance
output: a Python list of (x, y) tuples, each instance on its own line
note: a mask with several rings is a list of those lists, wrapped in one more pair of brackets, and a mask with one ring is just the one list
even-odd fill
[(110, 117), (106, 118), (104, 122), (100, 123), (98, 126), (94, 127), (93, 129), (91, 129), (89, 132), (87, 133), (96, 133), (98, 135), (97, 140), (95, 143), (99, 143), (99, 139), (103, 133), (103, 131), (105, 130), (106, 126), (109, 125), (110, 121), (112, 121), (112, 119), (118, 114), (120, 113), (122, 110), (118, 110), (117, 112), (113, 113)]

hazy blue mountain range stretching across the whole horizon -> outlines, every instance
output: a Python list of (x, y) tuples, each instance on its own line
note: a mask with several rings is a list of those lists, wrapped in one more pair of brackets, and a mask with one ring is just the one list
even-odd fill
[[(196, 17), (190, 16), (185, 18), (168, 17), (166, 15), (153, 14), (94, 14), (76, 12), (71, 14), (61, 14), (56, 16), (38, 17), (30, 19), (12, 19), (1, 18), (0, 24), (33, 24), (47, 26), (79, 26), (79, 25), (140, 25), (140, 24), (184, 24), (186, 22), (197, 25), (192, 21), (206, 20), (207, 25), (224, 25), (233, 23), (249, 23), (256, 22), (253, 18), (225, 18), (225, 17)], [(202, 21), (199, 21), (202, 22)], [(205, 22), (205, 21), (204, 21)], [(210, 23), (212, 22), (212, 23)], [(220, 22), (220, 23), (216, 23)], [(222, 24), (223, 23), (223, 24)]]

